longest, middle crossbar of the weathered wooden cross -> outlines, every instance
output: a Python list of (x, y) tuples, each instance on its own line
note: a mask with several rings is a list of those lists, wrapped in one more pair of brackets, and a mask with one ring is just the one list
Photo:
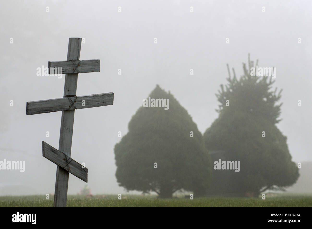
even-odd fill
[[(85, 101), (83, 103), (83, 101)], [(72, 105), (72, 103), (75, 105)], [(75, 110), (114, 104), (114, 93), (71, 96), (51, 100), (39, 100), (26, 103), (26, 114), (42, 114), (61, 110)], [(83, 106), (85, 105), (85, 106)]]

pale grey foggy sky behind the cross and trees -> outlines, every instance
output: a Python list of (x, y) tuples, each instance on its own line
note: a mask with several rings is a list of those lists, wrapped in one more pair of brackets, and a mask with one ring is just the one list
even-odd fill
[[(42, 157), (41, 141), (58, 149), (61, 112), (28, 116), (26, 102), (62, 97), (65, 75), (37, 76), (36, 69), (66, 60), (69, 37), (85, 38), (80, 60), (101, 60), (100, 72), (78, 75), (77, 95), (115, 93), (112, 106), (75, 112), (71, 156), (86, 163), (93, 194), (124, 192), (115, 178), (118, 131), (128, 132), (132, 115), (156, 84), (170, 90), (203, 133), (217, 118), (215, 93), (226, 83), (226, 64), (240, 76), (248, 53), (259, 66), (276, 67), (274, 86), (283, 89), (283, 120), (277, 126), (287, 136), (293, 160), (312, 161), (311, 5), (285, 0), (1, 1), (0, 160), (24, 160), (25, 172), (1, 170), (0, 195), (54, 193), (56, 165)], [(70, 175), (68, 193), (84, 185)]]

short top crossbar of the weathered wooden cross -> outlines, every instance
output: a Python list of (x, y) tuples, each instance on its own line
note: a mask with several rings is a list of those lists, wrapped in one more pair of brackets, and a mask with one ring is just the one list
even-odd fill
[[(62, 74), (99, 72), (100, 60), (84, 60), (84, 61), (49, 61), (49, 74), (57, 74), (57, 69), (62, 68)], [(53, 68), (53, 69), (52, 69)]]

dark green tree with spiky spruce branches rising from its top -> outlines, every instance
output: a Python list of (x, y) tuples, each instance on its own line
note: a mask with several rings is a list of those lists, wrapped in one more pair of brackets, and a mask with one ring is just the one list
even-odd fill
[[(253, 62), (249, 62), (252, 66)], [(219, 117), (204, 133), (204, 141), (213, 161), (240, 161), (240, 172), (212, 170), (210, 194), (258, 196), (266, 189), (294, 184), (298, 168), (291, 161), (286, 137), (276, 127), (281, 91), (271, 91), (274, 81), (267, 76), (250, 76), (243, 64), (239, 80), (229, 76), (217, 94)], [(234, 72), (234, 71), (233, 71)], [(229, 106), (226, 101), (229, 100)], [(262, 137), (265, 131), (266, 137)], [(220, 150), (223, 153), (218, 153)], [(217, 153), (213, 153), (217, 152)]]

